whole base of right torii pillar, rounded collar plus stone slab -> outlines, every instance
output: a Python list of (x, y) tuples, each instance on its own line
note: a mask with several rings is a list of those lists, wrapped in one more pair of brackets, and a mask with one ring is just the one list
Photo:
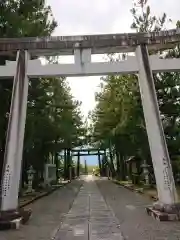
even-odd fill
[(146, 212), (158, 221), (180, 221), (180, 203), (171, 205), (156, 202), (146, 207)]

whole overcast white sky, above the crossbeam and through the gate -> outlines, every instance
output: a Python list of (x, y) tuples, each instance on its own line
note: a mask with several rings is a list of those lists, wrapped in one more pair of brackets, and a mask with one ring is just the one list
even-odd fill
[[(47, 0), (58, 27), (53, 35), (130, 32), (132, 0)], [(180, 0), (149, 0), (153, 13), (180, 19)], [(169, 26), (170, 27), (170, 26)], [(68, 78), (73, 95), (83, 102), (82, 112), (95, 106), (99, 77)]]

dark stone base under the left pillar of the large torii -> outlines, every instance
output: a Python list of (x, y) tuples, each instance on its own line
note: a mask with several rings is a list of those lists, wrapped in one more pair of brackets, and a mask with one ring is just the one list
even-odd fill
[(31, 209), (0, 212), (0, 230), (19, 229), (31, 217)]

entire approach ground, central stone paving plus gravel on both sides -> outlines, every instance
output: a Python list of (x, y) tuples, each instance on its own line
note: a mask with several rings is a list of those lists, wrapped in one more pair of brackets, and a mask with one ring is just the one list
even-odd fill
[(150, 203), (111, 181), (88, 176), (34, 202), (29, 223), (0, 232), (0, 240), (180, 240), (180, 222), (154, 220), (145, 212)]

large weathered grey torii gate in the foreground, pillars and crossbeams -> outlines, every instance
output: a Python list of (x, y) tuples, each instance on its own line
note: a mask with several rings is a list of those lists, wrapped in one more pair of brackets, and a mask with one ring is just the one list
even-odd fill
[[(0, 54), (16, 54), (16, 61), (0, 66), (0, 78), (14, 78), (4, 156), (0, 220), (22, 219), (18, 208), (28, 79), (58, 76), (138, 74), (146, 129), (163, 211), (177, 202), (171, 162), (164, 137), (152, 73), (180, 71), (180, 59), (159, 59), (148, 50), (164, 50), (180, 42), (180, 29), (152, 33), (130, 33), (47, 38), (2, 38)], [(120, 62), (92, 62), (92, 54), (135, 52)], [(32, 57), (74, 55), (73, 64), (41, 65)], [(159, 204), (156, 205), (159, 207)], [(9, 217), (10, 216), (10, 217)], [(13, 217), (14, 216), (14, 217)], [(2, 222), (2, 221), (0, 221)], [(17, 221), (16, 221), (17, 222)]]

